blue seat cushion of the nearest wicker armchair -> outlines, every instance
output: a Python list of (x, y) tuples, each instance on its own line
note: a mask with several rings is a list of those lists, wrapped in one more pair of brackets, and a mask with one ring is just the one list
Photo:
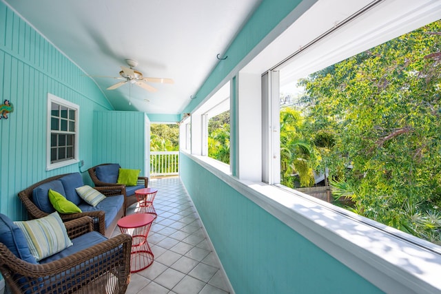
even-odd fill
[(105, 240), (107, 240), (107, 238), (96, 231), (85, 233), (84, 235), (72, 239), (72, 246), (64, 249), (63, 251), (60, 251), (59, 253), (50, 255), (48, 258), (40, 260), (40, 263), (46, 264), (48, 262), (59, 260), (60, 258), (68, 257), (69, 255), (77, 253), (83, 249), (88, 249), (90, 246), (93, 246), (94, 244), (99, 244)]

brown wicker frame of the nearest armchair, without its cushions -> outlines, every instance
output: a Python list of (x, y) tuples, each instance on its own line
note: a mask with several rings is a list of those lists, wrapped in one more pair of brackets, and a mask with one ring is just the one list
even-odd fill
[[(93, 230), (90, 217), (65, 222), (71, 239)], [(116, 235), (65, 258), (30, 264), (0, 243), (6, 293), (125, 293), (130, 282), (130, 235)]]

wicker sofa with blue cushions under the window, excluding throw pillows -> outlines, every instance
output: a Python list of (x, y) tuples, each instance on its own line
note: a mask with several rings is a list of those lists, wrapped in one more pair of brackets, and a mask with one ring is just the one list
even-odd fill
[[(99, 202), (96, 207), (93, 207), (84, 202), (76, 193), (75, 189), (81, 186), (83, 186), (81, 174), (62, 174), (41, 180), (27, 189), (20, 191), (19, 198), (28, 211), (28, 217), (31, 220), (43, 218), (55, 211), (48, 199), (48, 189), (53, 189), (61, 193), (83, 211), (81, 213), (61, 213), (61, 219), (73, 220), (82, 216), (90, 216), (94, 220), (95, 231), (99, 231), (109, 238), (116, 228), (118, 220), (125, 216), (125, 209), (127, 207), (124, 196), (125, 187), (121, 185), (95, 187), (94, 189), (103, 193), (106, 198)], [(39, 193), (39, 196), (37, 196), (37, 193)]]

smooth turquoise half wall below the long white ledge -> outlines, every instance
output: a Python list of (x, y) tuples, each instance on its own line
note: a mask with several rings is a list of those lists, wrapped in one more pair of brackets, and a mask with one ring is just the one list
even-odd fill
[(179, 156), (183, 184), (236, 293), (382, 293), (194, 160)]

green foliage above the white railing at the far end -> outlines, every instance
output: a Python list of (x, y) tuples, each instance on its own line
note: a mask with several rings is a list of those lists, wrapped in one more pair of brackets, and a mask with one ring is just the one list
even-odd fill
[(150, 125), (150, 151), (178, 151), (179, 126), (166, 124)]

